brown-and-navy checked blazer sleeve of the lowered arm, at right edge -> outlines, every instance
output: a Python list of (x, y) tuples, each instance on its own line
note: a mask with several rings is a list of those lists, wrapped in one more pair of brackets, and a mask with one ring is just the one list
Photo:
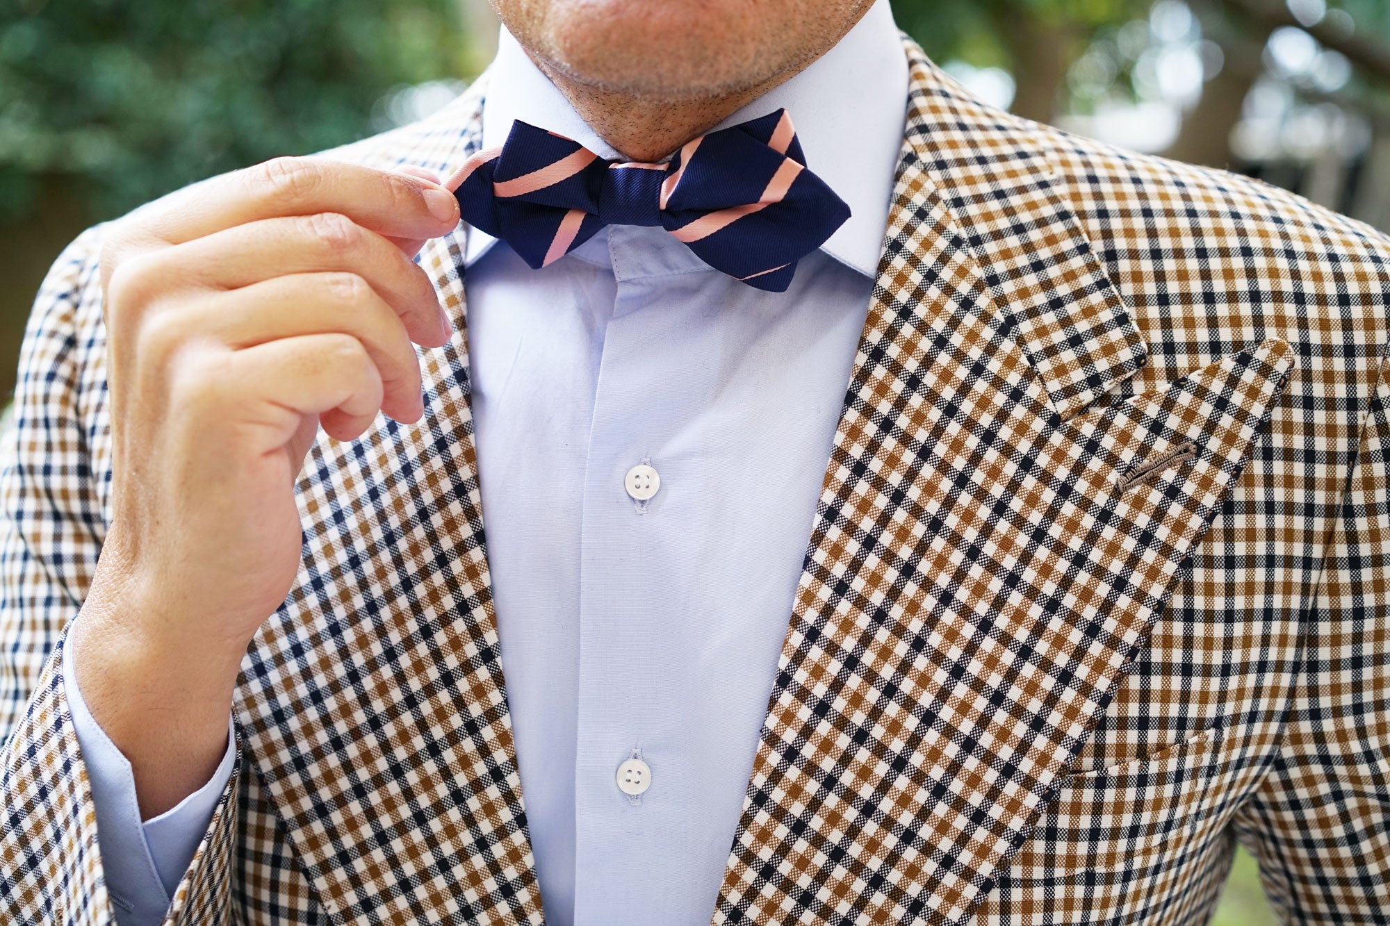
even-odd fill
[(1390, 911), (1386, 363), (1327, 549), (1284, 740), (1237, 819), (1237, 834), (1258, 858), (1283, 922), (1383, 923)]

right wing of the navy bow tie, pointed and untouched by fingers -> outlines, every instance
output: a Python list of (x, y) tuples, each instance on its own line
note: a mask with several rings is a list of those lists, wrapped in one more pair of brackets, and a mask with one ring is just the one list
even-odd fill
[(663, 225), (709, 266), (759, 289), (785, 291), (796, 261), (849, 218), (844, 200), (806, 170), (785, 113), (710, 132), (680, 157)]

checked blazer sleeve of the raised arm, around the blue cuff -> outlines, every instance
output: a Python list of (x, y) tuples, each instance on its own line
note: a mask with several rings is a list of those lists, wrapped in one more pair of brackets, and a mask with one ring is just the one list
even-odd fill
[[(96, 811), (63, 680), (106, 535), (108, 466), (100, 228), (50, 270), (19, 352), (0, 431), (0, 920), (114, 923)], [(240, 767), (240, 742), (234, 767)], [(165, 923), (228, 920), (236, 777), (218, 799)]]

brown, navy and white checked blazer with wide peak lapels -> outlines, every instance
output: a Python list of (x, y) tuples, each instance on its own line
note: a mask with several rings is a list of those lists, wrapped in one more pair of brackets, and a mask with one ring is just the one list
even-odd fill
[[(1386, 922), (1390, 241), (998, 111), (906, 47), (877, 285), (712, 922), (1202, 923), (1237, 840), (1287, 920)], [(446, 174), (485, 88), (332, 154)], [(0, 457), (6, 922), (111, 922), (57, 658), (110, 514), (101, 234), (39, 293)], [(310, 452), (297, 583), (171, 923), (542, 922), (466, 235), (421, 256), (457, 328), (420, 349), (425, 417)]]

